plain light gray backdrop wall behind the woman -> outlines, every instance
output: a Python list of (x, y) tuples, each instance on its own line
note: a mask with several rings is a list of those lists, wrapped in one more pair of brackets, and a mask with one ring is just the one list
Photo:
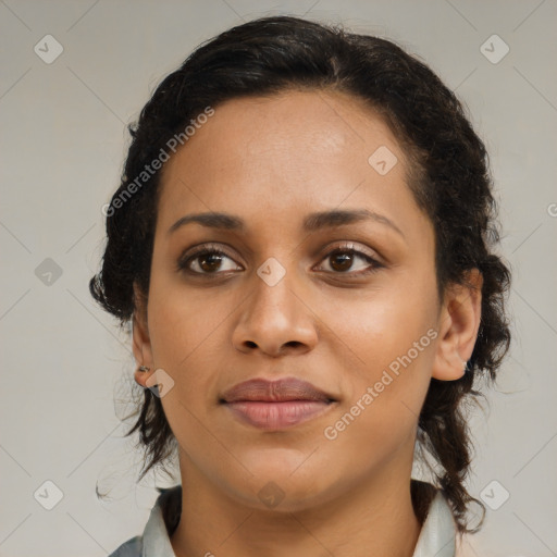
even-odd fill
[[(491, 153), (516, 323), (498, 386), (472, 418), (468, 480), (492, 506), (510, 496), (462, 555), (557, 555), (555, 0), (0, 1), (0, 555), (102, 556), (143, 531), (156, 479), (136, 485), (140, 454), (119, 421), (132, 408), (131, 345), (88, 293), (101, 207), (125, 124), (157, 83), (202, 40), (278, 13), (391, 38), (468, 106)], [(63, 52), (47, 64), (34, 47), (49, 34)], [(493, 34), (510, 49), (498, 63), (480, 49)], [(46, 481), (63, 493), (52, 510), (38, 503), (53, 500)]]

